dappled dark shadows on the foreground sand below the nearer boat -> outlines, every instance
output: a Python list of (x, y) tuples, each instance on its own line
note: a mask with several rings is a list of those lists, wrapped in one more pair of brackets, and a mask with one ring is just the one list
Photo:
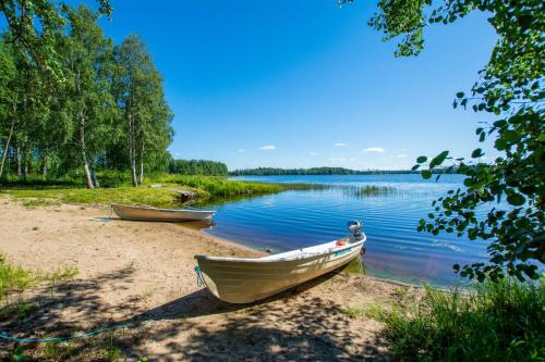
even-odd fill
[[(147, 355), (160, 361), (278, 361), (390, 360), (377, 338), (361, 344), (361, 326), (341, 313), (341, 305), (307, 289), (337, 276), (337, 272), (251, 304), (229, 304), (206, 289), (142, 311), (138, 297), (114, 305), (105, 302), (105, 288), (130, 288), (134, 270), (121, 269), (94, 279), (75, 279), (37, 290), (27, 301), (39, 305), (29, 316), (0, 317), (0, 328), (19, 336), (65, 336), (108, 325), (116, 344), (130, 359)], [(105, 336), (78, 339), (72, 360), (104, 344)], [(149, 354), (149, 345), (159, 346)], [(0, 350), (13, 350), (0, 341)], [(77, 354), (80, 353), (80, 354)], [(0, 358), (5, 358), (1, 355)]]

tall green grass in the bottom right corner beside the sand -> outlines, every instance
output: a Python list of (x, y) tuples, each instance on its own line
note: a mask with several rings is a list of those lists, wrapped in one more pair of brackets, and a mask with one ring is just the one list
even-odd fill
[(479, 284), (469, 295), (426, 287), (421, 302), (371, 314), (400, 360), (543, 361), (545, 288), (512, 279)]

